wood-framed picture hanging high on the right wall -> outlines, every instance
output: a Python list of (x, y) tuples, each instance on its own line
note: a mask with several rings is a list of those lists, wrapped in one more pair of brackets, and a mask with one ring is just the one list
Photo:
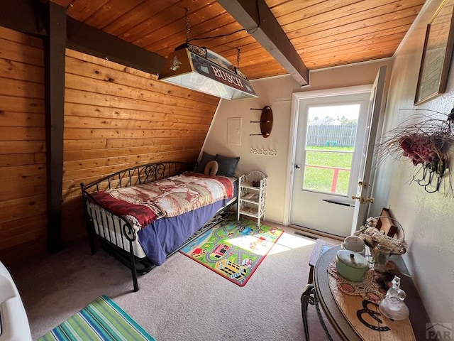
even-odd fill
[(445, 92), (454, 45), (453, 10), (454, 0), (444, 0), (427, 25), (414, 104)]

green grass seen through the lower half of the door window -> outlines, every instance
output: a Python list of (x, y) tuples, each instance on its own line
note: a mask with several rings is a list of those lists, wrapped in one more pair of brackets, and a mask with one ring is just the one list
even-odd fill
[(353, 150), (353, 146), (308, 146), (303, 189), (332, 193), (333, 180), (335, 180), (335, 169), (333, 168), (347, 168), (348, 170), (338, 169), (336, 190), (334, 192), (339, 195), (347, 195)]

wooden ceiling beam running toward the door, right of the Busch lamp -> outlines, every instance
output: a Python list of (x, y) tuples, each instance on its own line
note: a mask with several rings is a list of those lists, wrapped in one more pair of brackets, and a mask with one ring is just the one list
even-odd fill
[(309, 70), (265, 0), (218, 0), (228, 13), (275, 58), (301, 86), (309, 84)]

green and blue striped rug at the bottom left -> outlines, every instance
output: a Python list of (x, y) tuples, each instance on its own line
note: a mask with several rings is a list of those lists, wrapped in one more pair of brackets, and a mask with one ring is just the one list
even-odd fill
[(103, 295), (38, 341), (155, 341), (109, 297)]

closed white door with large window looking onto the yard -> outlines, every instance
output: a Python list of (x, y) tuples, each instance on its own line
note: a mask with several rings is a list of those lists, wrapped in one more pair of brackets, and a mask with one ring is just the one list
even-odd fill
[(295, 94), (291, 224), (341, 237), (350, 234), (370, 91), (369, 85)]

